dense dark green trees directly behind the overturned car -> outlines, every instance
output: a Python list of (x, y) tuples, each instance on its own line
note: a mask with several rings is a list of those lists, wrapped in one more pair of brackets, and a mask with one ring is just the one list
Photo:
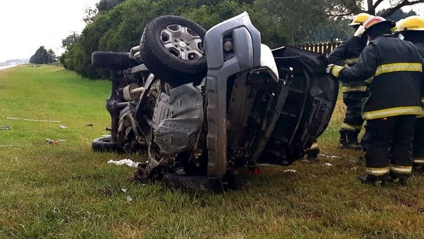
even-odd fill
[[(403, 0), (392, 1), (405, 4)], [(381, 2), (372, 6), (377, 7)], [(94, 9), (85, 11), (87, 26), (81, 35), (77, 39), (75, 35), (64, 39), (66, 52), (61, 63), (84, 77), (104, 77), (104, 70), (91, 66), (91, 53), (128, 52), (139, 44), (145, 25), (162, 15), (183, 16), (209, 29), (247, 11), (261, 32), (262, 42), (271, 48), (344, 39), (353, 34), (353, 28), (346, 26), (350, 22), (346, 16), (364, 12), (360, 6), (361, 1), (356, 0), (101, 0)], [(401, 16), (405, 14), (402, 13)]]

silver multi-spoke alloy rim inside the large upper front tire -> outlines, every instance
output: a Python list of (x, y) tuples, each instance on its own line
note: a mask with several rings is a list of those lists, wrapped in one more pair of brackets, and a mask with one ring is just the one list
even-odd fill
[(182, 60), (195, 61), (204, 56), (202, 38), (186, 26), (166, 26), (161, 31), (161, 40), (169, 53)]

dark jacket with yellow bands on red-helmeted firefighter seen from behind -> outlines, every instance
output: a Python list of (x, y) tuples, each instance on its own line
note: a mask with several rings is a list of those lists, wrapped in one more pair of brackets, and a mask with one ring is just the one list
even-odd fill
[(384, 35), (370, 41), (355, 66), (337, 67), (336, 75), (343, 82), (373, 77), (364, 120), (420, 115), (423, 61), (413, 43)]

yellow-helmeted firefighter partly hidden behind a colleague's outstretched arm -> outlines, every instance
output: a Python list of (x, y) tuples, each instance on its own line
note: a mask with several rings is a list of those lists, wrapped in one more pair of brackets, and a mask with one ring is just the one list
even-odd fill
[[(340, 66), (354, 66), (359, 55), (366, 45), (366, 38), (360, 36), (358, 28), (371, 15), (367, 13), (358, 14), (349, 26), (353, 26), (357, 32), (344, 40), (336, 49), (334, 49), (328, 59), (330, 63)], [(360, 149), (358, 143), (358, 134), (362, 129), (361, 106), (362, 99), (366, 97), (366, 86), (364, 81), (350, 81), (342, 83), (343, 103), (346, 105), (346, 115), (340, 126), (339, 148), (342, 149)]]

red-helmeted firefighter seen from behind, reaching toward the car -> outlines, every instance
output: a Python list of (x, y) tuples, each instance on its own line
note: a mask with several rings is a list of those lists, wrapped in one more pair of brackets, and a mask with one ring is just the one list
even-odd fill
[(362, 106), (367, 176), (362, 183), (402, 183), (412, 170), (415, 117), (421, 114), (422, 58), (415, 45), (391, 35), (393, 21), (371, 17), (363, 24), (368, 44), (353, 67), (330, 64), (343, 82), (374, 77)]

